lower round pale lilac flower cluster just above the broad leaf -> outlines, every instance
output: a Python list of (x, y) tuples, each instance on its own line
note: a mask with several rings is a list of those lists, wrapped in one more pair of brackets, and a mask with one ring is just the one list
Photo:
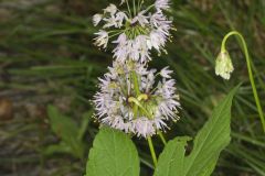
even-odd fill
[(156, 69), (148, 70), (132, 61), (114, 62), (108, 69), (93, 100), (99, 122), (147, 138), (168, 129), (167, 121), (179, 119), (173, 79), (162, 77), (157, 82)]

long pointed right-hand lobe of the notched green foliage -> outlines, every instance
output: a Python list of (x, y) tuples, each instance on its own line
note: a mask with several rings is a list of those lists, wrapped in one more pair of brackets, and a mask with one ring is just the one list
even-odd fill
[(187, 176), (205, 176), (213, 172), (219, 155), (231, 140), (231, 107), (234, 88), (213, 110), (212, 117), (197, 134), (192, 153), (184, 160)]

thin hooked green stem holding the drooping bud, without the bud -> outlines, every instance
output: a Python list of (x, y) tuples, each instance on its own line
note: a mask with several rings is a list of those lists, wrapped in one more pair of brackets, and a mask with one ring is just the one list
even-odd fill
[(255, 98), (257, 111), (258, 111), (258, 114), (259, 114), (259, 118), (261, 118), (261, 121), (262, 121), (263, 130), (265, 132), (264, 113), (263, 113), (261, 101), (259, 101), (259, 98), (258, 98), (258, 95), (257, 95), (256, 85), (255, 85), (255, 80), (254, 80), (254, 76), (253, 76), (253, 72), (252, 72), (251, 57), (250, 57), (248, 50), (247, 50), (246, 42), (245, 42), (244, 37), (237, 31), (232, 31), (232, 32), (227, 33), (223, 38), (221, 50), (225, 51), (226, 41), (232, 35), (239, 36), (242, 44), (243, 44), (243, 51), (244, 51), (245, 58), (246, 58), (246, 65), (247, 65), (248, 76), (250, 76), (250, 80), (251, 80), (251, 85), (252, 85), (252, 90), (253, 90), (253, 95), (254, 95), (254, 98)]

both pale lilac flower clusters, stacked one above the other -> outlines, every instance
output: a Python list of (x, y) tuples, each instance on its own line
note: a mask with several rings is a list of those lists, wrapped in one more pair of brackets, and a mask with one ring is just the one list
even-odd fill
[(156, 0), (147, 8), (144, 0), (136, 1), (130, 1), (130, 8), (128, 0), (121, 0), (127, 11), (109, 4), (103, 14), (93, 16), (94, 25), (103, 23), (103, 30), (95, 33), (95, 45), (106, 48), (110, 40), (116, 45), (113, 66), (99, 78), (93, 102), (100, 123), (148, 138), (169, 129), (167, 121), (179, 119), (180, 103), (173, 72), (147, 68), (150, 51), (166, 52), (171, 36), (172, 22), (163, 14), (169, 1)]

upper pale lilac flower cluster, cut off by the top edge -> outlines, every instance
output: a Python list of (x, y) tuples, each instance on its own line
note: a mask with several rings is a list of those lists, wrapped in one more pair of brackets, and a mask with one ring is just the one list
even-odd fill
[[(156, 0), (155, 4), (147, 8), (144, 8), (145, 1), (142, 0), (138, 0), (137, 4), (130, 2), (121, 0), (120, 6), (126, 4), (128, 9), (126, 11), (119, 10), (115, 4), (109, 4), (104, 9), (103, 14), (94, 15), (93, 23), (98, 25), (102, 22), (104, 32), (107, 33), (112, 43), (116, 44), (113, 53), (117, 61), (124, 63), (132, 59), (147, 63), (151, 59), (152, 48), (159, 54), (166, 52), (163, 47), (171, 36), (169, 31), (173, 29), (172, 21), (168, 20), (162, 11), (169, 9), (169, 2)], [(130, 8), (131, 6), (134, 8)], [(95, 41), (99, 47), (107, 46), (107, 41), (103, 41), (102, 37), (97, 36)]]

